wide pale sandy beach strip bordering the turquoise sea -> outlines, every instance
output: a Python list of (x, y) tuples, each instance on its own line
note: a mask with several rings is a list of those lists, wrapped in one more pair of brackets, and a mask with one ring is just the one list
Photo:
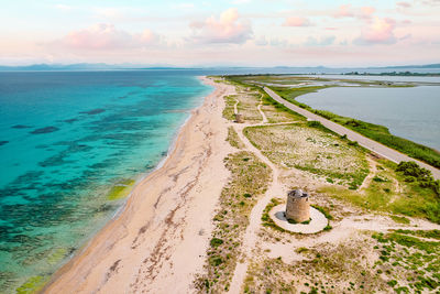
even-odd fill
[[(222, 96), (213, 94), (182, 129), (165, 164), (133, 189), (110, 221), (44, 288), (45, 293), (188, 293), (202, 272), (212, 215), (229, 172)], [(213, 176), (215, 175), (215, 176)]]

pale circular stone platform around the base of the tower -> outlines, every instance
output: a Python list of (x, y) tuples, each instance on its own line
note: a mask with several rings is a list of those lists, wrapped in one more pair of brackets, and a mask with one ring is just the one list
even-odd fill
[(292, 232), (316, 233), (323, 230), (329, 224), (326, 216), (314, 207), (310, 207), (310, 222), (307, 225), (289, 224), (286, 219), (285, 211), (286, 204), (280, 204), (272, 208), (268, 215), (272, 220), (275, 221), (276, 226)]

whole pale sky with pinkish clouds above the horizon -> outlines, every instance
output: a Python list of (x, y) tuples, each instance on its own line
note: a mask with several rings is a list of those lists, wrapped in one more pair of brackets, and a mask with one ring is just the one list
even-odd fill
[(3, 0), (0, 64), (440, 63), (440, 0)]

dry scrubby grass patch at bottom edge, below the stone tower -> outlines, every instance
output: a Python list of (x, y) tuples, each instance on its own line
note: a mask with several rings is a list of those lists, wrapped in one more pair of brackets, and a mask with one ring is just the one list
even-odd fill
[(372, 269), (374, 240), (356, 239), (340, 244), (298, 248), (304, 259), (285, 263), (264, 258), (248, 272), (248, 293), (373, 293), (391, 290)]

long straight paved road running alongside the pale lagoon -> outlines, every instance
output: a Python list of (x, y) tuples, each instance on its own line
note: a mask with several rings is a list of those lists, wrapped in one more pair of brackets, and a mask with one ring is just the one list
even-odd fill
[(432, 172), (432, 175), (435, 178), (439, 179), (440, 178), (440, 170), (436, 168), (429, 164), (426, 164), (424, 162), (420, 162), (418, 160), (415, 160), (413, 157), (409, 157), (408, 155), (405, 155), (394, 149), (387, 148), (376, 141), (373, 141), (371, 139), (367, 139), (366, 137), (363, 137), (360, 133), (356, 133), (352, 130), (349, 130), (344, 127), (342, 127), (341, 124), (338, 124), (333, 121), (330, 121), (328, 119), (324, 119), (318, 115), (311, 113), (310, 111), (302, 109), (294, 104), (290, 104), (288, 101), (286, 101), (285, 99), (283, 99), (282, 97), (279, 97), (276, 92), (274, 92), (273, 90), (271, 90), (267, 87), (264, 87), (264, 90), (277, 102), (284, 105), (285, 107), (294, 110), (295, 112), (298, 112), (302, 116), (305, 116), (308, 119), (312, 119), (312, 120), (317, 120), (319, 122), (321, 122), (326, 128), (332, 130), (333, 132), (343, 135), (346, 134), (346, 137), (352, 140), (352, 141), (358, 141), (358, 143), (369, 150), (371, 150), (374, 153), (377, 153), (393, 162), (399, 163), (402, 161), (415, 161), (417, 162), (420, 166), (428, 168)]

